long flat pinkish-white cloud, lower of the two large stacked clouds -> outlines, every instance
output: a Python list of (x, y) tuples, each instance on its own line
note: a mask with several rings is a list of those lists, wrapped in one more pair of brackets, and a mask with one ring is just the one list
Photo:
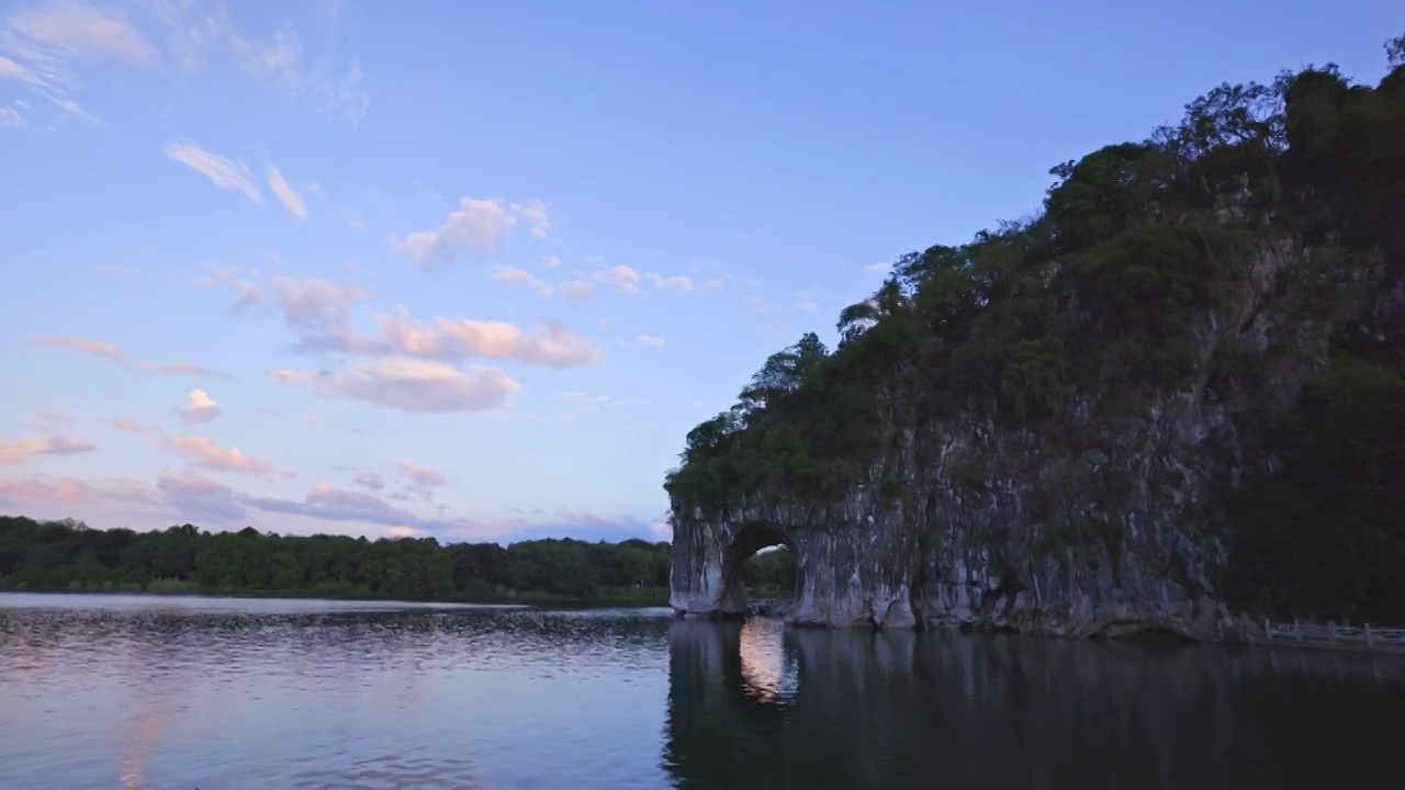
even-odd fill
[(410, 358), (375, 360), (340, 373), (278, 370), (275, 384), (311, 387), (325, 395), (364, 401), (403, 412), (483, 412), (502, 406), (521, 385), (503, 371), (448, 365)]

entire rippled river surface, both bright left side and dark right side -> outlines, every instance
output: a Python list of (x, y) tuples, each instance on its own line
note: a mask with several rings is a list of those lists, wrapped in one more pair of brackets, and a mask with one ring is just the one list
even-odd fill
[(1401, 787), (1405, 656), (0, 595), (0, 787)]

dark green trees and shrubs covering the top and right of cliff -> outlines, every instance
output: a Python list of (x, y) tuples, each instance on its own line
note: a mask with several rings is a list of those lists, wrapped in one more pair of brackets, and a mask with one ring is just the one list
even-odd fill
[[(903, 430), (981, 415), (1073, 458), (1080, 426), (1194, 394), (1228, 416), (1231, 454), (1252, 450), (1215, 481), (1221, 593), (1405, 621), (1405, 37), (1387, 56), (1375, 87), (1331, 65), (1222, 84), (1054, 167), (1037, 216), (902, 256), (840, 313), (833, 353), (805, 335), (688, 433), (674, 507), (895, 499), (878, 461)], [(1274, 250), (1293, 260), (1264, 276)], [(1221, 332), (1266, 299), (1325, 343), (1284, 320), (1253, 349)], [(981, 458), (947, 468), (982, 482)]]

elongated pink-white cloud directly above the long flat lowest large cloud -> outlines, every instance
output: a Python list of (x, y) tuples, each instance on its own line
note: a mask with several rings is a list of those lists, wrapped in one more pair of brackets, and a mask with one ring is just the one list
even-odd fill
[(375, 323), (392, 346), (410, 357), (434, 360), (492, 357), (554, 368), (604, 357), (600, 349), (558, 322), (547, 322), (528, 336), (511, 323), (500, 320), (440, 318), (433, 326), (426, 326), (402, 308), (396, 316), (377, 315)]

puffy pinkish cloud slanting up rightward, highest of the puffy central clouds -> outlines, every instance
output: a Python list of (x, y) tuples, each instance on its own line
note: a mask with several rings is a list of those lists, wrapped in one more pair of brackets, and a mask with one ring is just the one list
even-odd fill
[(534, 200), (527, 205), (499, 198), (462, 198), (458, 209), (433, 231), (416, 231), (403, 239), (391, 236), (391, 245), (420, 268), (448, 266), (464, 249), (490, 250), (497, 239), (525, 222), (532, 236), (545, 238), (551, 229), (547, 204)]

